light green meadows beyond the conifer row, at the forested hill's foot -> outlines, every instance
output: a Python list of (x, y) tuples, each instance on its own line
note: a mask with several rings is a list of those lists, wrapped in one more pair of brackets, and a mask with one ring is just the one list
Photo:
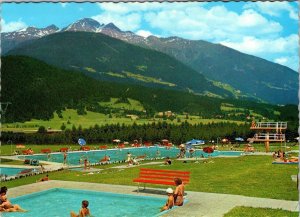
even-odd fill
[[(134, 101), (130, 99), (130, 105), (124, 103), (114, 104), (114, 100), (112, 99), (111, 102), (102, 103), (105, 104), (106, 107), (112, 108), (127, 108), (133, 110), (143, 110), (143, 107), (139, 104), (138, 101)], [(46, 128), (50, 127), (51, 129), (59, 130), (62, 124), (65, 124), (67, 129), (72, 129), (74, 125), (78, 128), (79, 125), (82, 128), (89, 128), (98, 125), (105, 125), (105, 124), (125, 124), (125, 125), (132, 125), (133, 123), (136, 124), (148, 124), (153, 122), (162, 122), (166, 121), (167, 123), (173, 124), (181, 124), (183, 121), (188, 121), (190, 124), (208, 124), (208, 123), (219, 123), (219, 122), (231, 122), (242, 124), (242, 121), (233, 121), (233, 120), (225, 120), (225, 119), (202, 119), (199, 116), (190, 116), (188, 119), (185, 118), (184, 115), (178, 115), (177, 117), (181, 119), (181, 122), (178, 122), (176, 119), (171, 120), (163, 120), (162, 118), (151, 118), (151, 119), (138, 119), (138, 120), (131, 120), (129, 117), (116, 117), (115, 114), (112, 115), (112, 118), (109, 118), (109, 115), (105, 115), (102, 113), (90, 112), (87, 111), (86, 115), (78, 115), (77, 111), (74, 109), (66, 109), (66, 111), (62, 111), (63, 118), (59, 118), (57, 113), (54, 113), (54, 118), (50, 119), (49, 121), (44, 120), (36, 120), (32, 119), (31, 121), (26, 121), (24, 123), (7, 123), (2, 124), (2, 131), (32, 131), (37, 130), (39, 126), (44, 126)]]

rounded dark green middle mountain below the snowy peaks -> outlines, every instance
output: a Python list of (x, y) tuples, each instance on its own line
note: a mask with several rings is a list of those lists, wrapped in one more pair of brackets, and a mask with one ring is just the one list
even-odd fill
[(17, 47), (8, 54), (31, 56), (101, 80), (196, 93), (209, 91), (223, 97), (232, 95), (173, 57), (99, 33), (52, 34)]

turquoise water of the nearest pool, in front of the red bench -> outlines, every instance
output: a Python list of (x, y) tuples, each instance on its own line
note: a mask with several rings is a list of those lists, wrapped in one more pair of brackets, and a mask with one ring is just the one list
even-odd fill
[(10, 199), (25, 213), (5, 213), (3, 217), (66, 217), (79, 212), (81, 201), (89, 201), (93, 217), (154, 217), (160, 214), (165, 198), (134, 196), (74, 189), (54, 188)]

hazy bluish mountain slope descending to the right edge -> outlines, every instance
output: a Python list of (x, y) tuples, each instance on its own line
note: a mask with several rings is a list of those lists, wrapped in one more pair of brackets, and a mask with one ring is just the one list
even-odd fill
[(208, 79), (229, 84), (243, 96), (274, 104), (299, 102), (298, 74), (286, 66), (203, 40), (151, 36), (139, 45), (166, 53)]

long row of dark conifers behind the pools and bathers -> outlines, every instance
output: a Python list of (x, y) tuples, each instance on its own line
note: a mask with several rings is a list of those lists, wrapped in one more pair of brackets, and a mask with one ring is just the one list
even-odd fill
[[(114, 139), (132, 142), (149, 141), (157, 143), (162, 139), (168, 139), (174, 144), (185, 143), (193, 138), (206, 141), (227, 138), (235, 141), (236, 137), (245, 140), (253, 137), (254, 132), (250, 130), (249, 124), (238, 125), (236, 123), (222, 122), (210, 124), (189, 124), (182, 122), (180, 125), (167, 124), (166, 122), (137, 125), (105, 125), (82, 129), (74, 127), (58, 133), (47, 133), (44, 127), (40, 127), (37, 133), (13, 133), (2, 132), (2, 142), (26, 143), (26, 144), (77, 144), (79, 138), (84, 138), (88, 144), (112, 143)], [(288, 129), (286, 138), (293, 140), (297, 131)]]

